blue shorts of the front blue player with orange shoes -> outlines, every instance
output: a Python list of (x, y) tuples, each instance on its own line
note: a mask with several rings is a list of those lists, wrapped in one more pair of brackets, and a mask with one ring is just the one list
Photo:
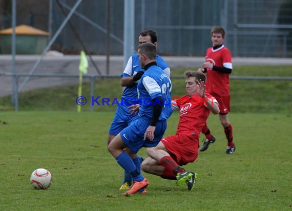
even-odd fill
[(166, 130), (166, 120), (158, 121), (154, 131), (154, 140), (143, 140), (144, 133), (150, 125), (150, 119), (138, 118), (120, 132), (124, 144), (126, 144), (133, 153), (137, 153), (142, 147), (155, 147), (163, 137)]

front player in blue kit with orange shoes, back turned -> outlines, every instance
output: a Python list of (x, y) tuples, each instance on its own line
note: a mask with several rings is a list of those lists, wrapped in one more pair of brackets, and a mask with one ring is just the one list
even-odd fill
[[(149, 181), (141, 174), (136, 153), (141, 147), (154, 147), (166, 130), (166, 119), (171, 115), (171, 81), (157, 66), (156, 47), (144, 43), (138, 47), (138, 56), (145, 73), (138, 82), (140, 108), (138, 118), (123, 129), (108, 145), (109, 152), (134, 180), (126, 194), (146, 193)], [(129, 152), (124, 152), (128, 147)]]

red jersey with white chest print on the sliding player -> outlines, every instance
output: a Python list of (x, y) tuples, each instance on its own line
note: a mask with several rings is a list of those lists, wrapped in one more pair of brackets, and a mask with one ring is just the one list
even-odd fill
[[(205, 95), (208, 99), (213, 100), (213, 103), (217, 102), (215, 97), (210, 94), (205, 93)], [(199, 138), (210, 114), (210, 109), (205, 106), (205, 102), (206, 99), (201, 98), (198, 93), (191, 97), (183, 95), (176, 100), (177, 107), (180, 109), (176, 134)]]

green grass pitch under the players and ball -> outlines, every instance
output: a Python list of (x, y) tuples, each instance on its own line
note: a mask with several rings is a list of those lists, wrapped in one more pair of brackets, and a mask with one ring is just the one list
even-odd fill
[[(223, 130), (211, 115), (217, 141), (185, 166), (199, 175), (195, 191), (144, 174), (151, 182), (148, 194), (131, 197), (120, 195), (123, 172), (107, 152), (113, 115), (2, 112), (0, 210), (291, 210), (291, 115), (231, 113), (234, 155), (224, 154)], [(165, 135), (175, 132), (177, 121), (175, 113)], [(29, 183), (41, 167), (53, 176), (45, 191)]]

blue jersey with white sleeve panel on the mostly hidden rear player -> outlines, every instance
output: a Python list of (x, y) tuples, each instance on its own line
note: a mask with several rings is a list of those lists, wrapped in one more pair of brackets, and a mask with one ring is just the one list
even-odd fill
[[(156, 57), (156, 62), (157, 62), (157, 65), (165, 72), (165, 74), (170, 77), (170, 68), (159, 55), (157, 55), (157, 57)], [(128, 64), (127, 64), (127, 66), (122, 74), (122, 77), (129, 77), (129, 76), (136, 75), (137, 72), (139, 72), (139, 71), (144, 72), (144, 70), (140, 66), (138, 54), (136, 53), (136, 54), (133, 54), (131, 56), (131, 58), (129, 59)], [(121, 104), (124, 104), (123, 103), (124, 101), (127, 102), (126, 106), (130, 106), (131, 104), (135, 104), (135, 99), (138, 99), (137, 83), (138, 83), (138, 81), (136, 81), (132, 86), (126, 87), (123, 90), (123, 94), (121, 97), (123, 99), (127, 99), (127, 101), (121, 99), (121, 101), (120, 101)]]

